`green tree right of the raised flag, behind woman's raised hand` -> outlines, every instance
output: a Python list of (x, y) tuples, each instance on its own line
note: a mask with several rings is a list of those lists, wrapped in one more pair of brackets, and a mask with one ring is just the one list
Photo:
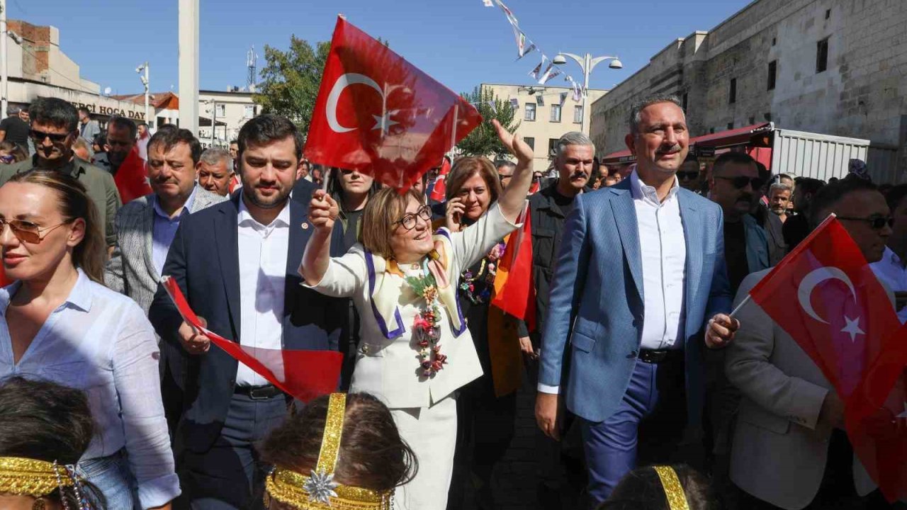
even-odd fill
[(457, 149), (468, 156), (493, 156), (506, 158), (510, 152), (498, 139), (494, 131), (492, 119), (497, 119), (509, 132), (514, 132), (520, 123), (513, 123), (513, 107), (510, 102), (505, 102), (494, 95), (490, 89), (482, 90), (475, 87), (472, 93), (463, 93), (463, 99), (473, 103), (473, 106), (482, 114), (482, 123), (473, 132), (466, 135), (457, 143)]

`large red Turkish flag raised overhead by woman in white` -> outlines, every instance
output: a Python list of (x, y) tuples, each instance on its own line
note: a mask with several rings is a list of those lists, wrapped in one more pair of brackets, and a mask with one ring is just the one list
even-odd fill
[(341, 16), (305, 152), (405, 191), (481, 122), (472, 104)]

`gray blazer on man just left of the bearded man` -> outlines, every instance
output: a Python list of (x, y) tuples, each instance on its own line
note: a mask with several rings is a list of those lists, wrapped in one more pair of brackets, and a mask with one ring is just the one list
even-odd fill
[[(104, 270), (107, 287), (135, 299), (147, 314), (158, 289), (161, 275), (154, 270), (151, 258), (151, 232), (154, 227), (152, 195), (145, 195), (122, 206), (116, 215), (118, 239), (113, 256)], [(195, 201), (190, 214), (226, 201), (216, 193), (195, 187)]]

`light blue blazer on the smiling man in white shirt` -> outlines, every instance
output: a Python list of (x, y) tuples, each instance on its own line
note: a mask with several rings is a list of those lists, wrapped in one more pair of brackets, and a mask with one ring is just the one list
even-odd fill
[[(732, 296), (721, 208), (691, 191), (678, 190), (677, 196), (687, 242), (688, 417), (698, 426), (704, 399), (703, 326), (713, 314), (730, 310)], [(643, 302), (630, 180), (580, 194), (564, 225), (551, 282), (539, 374), (541, 384), (561, 386), (567, 407), (577, 416), (592, 422), (608, 419), (624, 397), (639, 356)]]

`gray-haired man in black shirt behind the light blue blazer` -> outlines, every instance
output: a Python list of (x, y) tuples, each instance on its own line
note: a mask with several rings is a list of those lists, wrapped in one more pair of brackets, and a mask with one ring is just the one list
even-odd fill
[[(538, 382), (538, 358), (541, 345), (541, 324), (548, 309), (548, 294), (551, 289), (551, 269), (561, 244), (564, 221), (573, 210), (577, 195), (586, 191), (593, 169), (595, 144), (581, 132), (567, 132), (554, 146), (552, 167), (557, 179), (532, 194), (529, 199), (530, 221), (532, 223), (532, 280), (536, 287), (535, 306), (538, 327), (530, 333), (522, 321), (517, 325), (520, 348), (527, 364), (527, 373), (533, 386)], [(509, 181), (513, 172), (498, 167), (502, 185)], [(560, 508), (563, 498), (569, 496), (567, 476), (561, 465), (561, 446), (550, 437), (540, 434), (538, 444), (538, 471), (540, 484), (538, 497), (542, 508)], [(569, 505), (573, 507), (574, 505)]]

